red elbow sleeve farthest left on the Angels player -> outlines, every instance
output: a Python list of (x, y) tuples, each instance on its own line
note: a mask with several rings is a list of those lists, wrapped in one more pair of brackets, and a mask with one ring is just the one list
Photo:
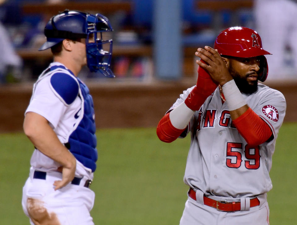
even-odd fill
[(184, 129), (177, 129), (172, 125), (169, 118), (169, 113), (163, 116), (157, 126), (157, 136), (161, 141), (166, 143), (176, 140), (183, 131)]

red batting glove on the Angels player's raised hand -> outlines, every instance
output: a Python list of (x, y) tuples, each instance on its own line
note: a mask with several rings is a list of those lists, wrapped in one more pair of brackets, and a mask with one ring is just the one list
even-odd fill
[[(200, 61), (205, 63), (202, 59)], [(213, 82), (209, 73), (199, 66), (197, 84), (186, 98), (186, 106), (192, 110), (199, 110), (206, 98), (214, 92), (217, 86), (218, 84)]]

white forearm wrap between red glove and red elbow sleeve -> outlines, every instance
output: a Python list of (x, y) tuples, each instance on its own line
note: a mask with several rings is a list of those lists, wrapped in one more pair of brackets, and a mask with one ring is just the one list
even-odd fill
[(169, 118), (175, 128), (184, 129), (193, 115), (194, 111), (183, 102), (170, 112)]

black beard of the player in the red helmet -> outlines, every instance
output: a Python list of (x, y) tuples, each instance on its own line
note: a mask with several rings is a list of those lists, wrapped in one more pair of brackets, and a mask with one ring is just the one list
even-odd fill
[(229, 73), (233, 77), (235, 84), (237, 85), (238, 89), (246, 94), (252, 94), (257, 91), (258, 89), (258, 79), (248, 81), (248, 76), (251, 76), (253, 73), (248, 73), (244, 77), (241, 77), (237, 71), (233, 69), (233, 67), (230, 65), (229, 67)]

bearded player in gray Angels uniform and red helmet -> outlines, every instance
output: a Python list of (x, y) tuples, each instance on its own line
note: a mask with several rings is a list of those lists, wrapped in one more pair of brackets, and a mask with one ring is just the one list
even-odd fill
[(191, 135), (180, 224), (269, 224), (269, 171), (286, 111), (282, 93), (258, 83), (270, 53), (255, 30), (231, 27), (195, 54), (197, 84), (157, 127), (164, 142)]

